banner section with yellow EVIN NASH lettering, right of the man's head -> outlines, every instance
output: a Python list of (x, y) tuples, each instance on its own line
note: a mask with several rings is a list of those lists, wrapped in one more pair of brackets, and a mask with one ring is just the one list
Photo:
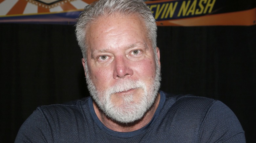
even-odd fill
[(253, 0), (161, 0), (147, 2), (158, 25), (255, 25)]

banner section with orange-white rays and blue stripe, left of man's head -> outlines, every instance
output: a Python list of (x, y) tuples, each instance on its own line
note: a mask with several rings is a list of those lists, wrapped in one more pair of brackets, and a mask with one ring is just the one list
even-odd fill
[(75, 24), (94, 0), (0, 0), (0, 23)]

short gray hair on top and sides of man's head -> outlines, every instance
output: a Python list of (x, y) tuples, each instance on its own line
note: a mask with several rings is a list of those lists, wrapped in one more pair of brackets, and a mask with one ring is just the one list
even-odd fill
[(137, 15), (145, 24), (147, 38), (150, 40), (152, 48), (156, 54), (157, 46), (157, 26), (150, 8), (143, 0), (98, 0), (84, 8), (80, 13), (78, 22), (75, 25), (75, 34), (78, 45), (81, 48), (83, 57), (87, 61), (86, 52), (88, 42), (86, 42), (86, 27), (96, 21), (99, 17), (107, 17), (112, 14), (124, 16)]

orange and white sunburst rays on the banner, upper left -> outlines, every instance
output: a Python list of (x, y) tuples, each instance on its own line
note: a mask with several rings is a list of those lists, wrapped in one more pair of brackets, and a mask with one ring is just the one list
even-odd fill
[(0, 16), (67, 12), (83, 9), (94, 0), (0, 0)]

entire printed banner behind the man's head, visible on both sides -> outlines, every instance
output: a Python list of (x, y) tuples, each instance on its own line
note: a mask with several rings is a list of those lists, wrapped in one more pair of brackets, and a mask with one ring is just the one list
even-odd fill
[[(0, 23), (75, 24), (94, 0), (0, 0)], [(253, 0), (145, 1), (159, 26), (255, 25)]]

